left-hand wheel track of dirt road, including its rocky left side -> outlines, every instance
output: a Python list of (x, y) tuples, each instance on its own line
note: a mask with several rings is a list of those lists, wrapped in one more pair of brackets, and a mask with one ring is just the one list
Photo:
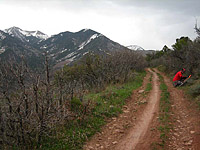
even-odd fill
[[(144, 89), (149, 82), (150, 74), (153, 74), (152, 90), (145, 97)], [(118, 118), (112, 118), (112, 121), (103, 127), (102, 132), (96, 134), (84, 149), (133, 150), (136, 146), (139, 149), (138, 145), (144, 146), (145, 143), (148, 144), (145, 147), (149, 149), (150, 145), (145, 136), (153, 118), (156, 119), (158, 116), (159, 98), (158, 76), (149, 69), (143, 86), (134, 92), (132, 99), (124, 106), (124, 113)]]

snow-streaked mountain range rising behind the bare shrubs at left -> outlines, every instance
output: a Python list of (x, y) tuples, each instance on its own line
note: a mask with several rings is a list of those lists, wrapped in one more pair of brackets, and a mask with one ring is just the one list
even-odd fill
[(0, 58), (24, 55), (29, 63), (41, 64), (47, 52), (56, 67), (74, 62), (87, 53), (107, 55), (128, 48), (91, 29), (61, 32), (49, 38), (40, 31), (25, 31), (12, 27), (0, 32)]

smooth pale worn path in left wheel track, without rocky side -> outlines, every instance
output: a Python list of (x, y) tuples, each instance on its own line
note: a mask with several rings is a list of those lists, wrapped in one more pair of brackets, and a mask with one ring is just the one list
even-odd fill
[(138, 120), (136, 125), (130, 130), (129, 134), (120, 141), (115, 148), (116, 150), (133, 150), (139, 142), (143, 143), (143, 141), (146, 140), (145, 134), (147, 133), (150, 122), (154, 114), (159, 110), (160, 92), (158, 76), (155, 72), (149, 71), (153, 73), (153, 88), (148, 98), (148, 104), (140, 116), (140, 120)]

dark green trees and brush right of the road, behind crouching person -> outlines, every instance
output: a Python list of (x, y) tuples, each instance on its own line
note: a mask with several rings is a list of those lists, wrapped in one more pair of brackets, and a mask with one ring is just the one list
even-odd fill
[(182, 68), (185, 76), (192, 75), (186, 86), (187, 92), (200, 106), (200, 29), (195, 26), (198, 37), (192, 41), (188, 37), (176, 39), (172, 49), (164, 46), (161, 51), (148, 54), (146, 60), (153, 67), (160, 66), (171, 78)]

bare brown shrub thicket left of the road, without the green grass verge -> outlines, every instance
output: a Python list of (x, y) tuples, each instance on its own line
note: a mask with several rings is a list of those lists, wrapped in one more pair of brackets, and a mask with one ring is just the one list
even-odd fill
[(134, 79), (146, 66), (132, 51), (107, 56), (88, 55), (81, 63), (51, 74), (45, 55), (44, 72), (33, 72), (26, 61), (0, 65), (0, 148), (37, 149), (56, 136), (56, 127), (70, 120), (81, 123), (95, 106), (84, 101), (91, 90)]

